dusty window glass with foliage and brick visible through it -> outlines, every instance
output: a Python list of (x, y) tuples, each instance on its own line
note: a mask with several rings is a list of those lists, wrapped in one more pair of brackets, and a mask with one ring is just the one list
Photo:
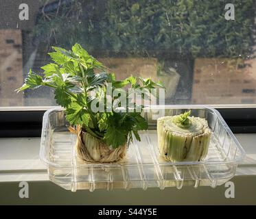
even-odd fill
[(0, 1), (0, 106), (56, 105), (49, 88), (16, 94), (51, 46), (75, 42), (119, 79), (160, 79), (166, 103), (256, 103), (255, 1)]

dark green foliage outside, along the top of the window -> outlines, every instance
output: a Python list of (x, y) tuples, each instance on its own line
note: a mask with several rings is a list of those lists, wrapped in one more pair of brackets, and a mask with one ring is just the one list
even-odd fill
[[(224, 18), (226, 3), (235, 21)], [(65, 47), (80, 42), (90, 53), (247, 57), (254, 44), (253, 0), (87, 0), (56, 11), (41, 14), (34, 36)]]

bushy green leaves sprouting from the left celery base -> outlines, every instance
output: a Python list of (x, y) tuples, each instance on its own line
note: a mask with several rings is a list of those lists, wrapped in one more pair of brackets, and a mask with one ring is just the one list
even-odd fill
[[(126, 86), (142, 90), (163, 85), (150, 78), (143, 79), (132, 75), (117, 81), (115, 74), (107, 73), (107, 68), (89, 55), (80, 44), (75, 44), (71, 51), (60, 47), (52, 49), (54, 52), (49, 55), (53, 62), (41, 67), (43, 77), (30, 70), (25, 83), (17, 91), (36, 89), (40, 86), (54, 88), (56, 103), (65, 108), (66, 119), (70, 125), (80, 125), (85, 132), (113, 148), (132, 140), (132, 133), (140, 140), (138, 131), (148, 129), (148, 123), (140, 112), (106, 112), (106, 107), (104, 112), (93, 112), (91, 103), (94, 99), (100, 98), (100, 95), (106, 97), (107, 84), (111, 84), (112, 90)], [(96, 70), (100, 73), (96, 73)], [(113, 101), (114, 98), (112, 103)]]

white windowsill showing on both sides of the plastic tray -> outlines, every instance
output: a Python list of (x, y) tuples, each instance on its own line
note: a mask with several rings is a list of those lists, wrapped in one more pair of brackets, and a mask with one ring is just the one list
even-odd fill
[[(246, 151), (237, 176), (256, 175), (256, 134), (236, 134)], [(39, 159), (40, 138), (0, 138), (0, 182), (48, 181), (47, 167)]]

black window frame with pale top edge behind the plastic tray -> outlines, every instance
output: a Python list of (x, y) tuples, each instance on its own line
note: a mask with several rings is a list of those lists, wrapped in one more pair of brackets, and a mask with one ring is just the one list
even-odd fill
[[(256, 104), (209, 106), (220, 112), (233, 133), (256, 133)], [(40, 137), (43, 114), (52, 107), (0, 107), (0, 138)]]

